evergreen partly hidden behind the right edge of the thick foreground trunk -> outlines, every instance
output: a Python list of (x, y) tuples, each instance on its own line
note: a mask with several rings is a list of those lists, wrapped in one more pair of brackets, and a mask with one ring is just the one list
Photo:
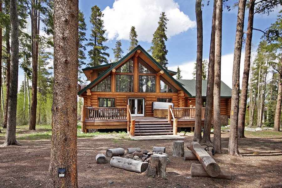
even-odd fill
[(85, 38), (86, 36), (86, 23), (83, 12), (79, 10), (78, 12), (78, 39), (79, 39), (79, 45), (78, 45), (78, 81), (82, 83), (81, 80), (83, 72), (82, 72), (82, 65), (85, 65), (86, 63), (84, 60), (86, 60), (84, 51), (86, 50), (85, 45), (83, 44), (84, 41), (87, 41)]

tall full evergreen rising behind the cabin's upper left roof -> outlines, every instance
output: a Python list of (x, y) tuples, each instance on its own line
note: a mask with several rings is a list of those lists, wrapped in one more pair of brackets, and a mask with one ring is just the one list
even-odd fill
[(109, 48), (106, 45), (103, 45), (108, 39), (104, 37), (106, 30), (104, 28), (104, 21), (102, 17), (104, 14), (100, 10), (97, 5), (91, 8), (91, 16), (90, 16), (90, 23), (91, 26), (91, 35), (89, 39), (89, 43), (87, 46), (91, 46), (92, 49), (88, 51), (89, 58), (91, 62), (88, 64), (89, 66), (97, 66), (101, 65), (102, 63), (108, 63), (107, 58), (109, 57), (109, 53), (106, 50)]

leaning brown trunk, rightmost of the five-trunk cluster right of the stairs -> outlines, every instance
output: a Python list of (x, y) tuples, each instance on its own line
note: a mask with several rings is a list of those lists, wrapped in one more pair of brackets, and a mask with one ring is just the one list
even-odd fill
[(250, 0), (247, 37), (246, 37), (246, 44), (245, 44), (246, 47), (245, 47), (244, 72), (243, 72), (243, 79), (242, 79), (242, 90), (241, 90), (241, 99), (240, 99), (239, 117), (238, 117), (238, 137), (239, 138), (245, 137), (244, 129), (245, 129), (247, 98), (248, 98), (248, 82), (249, 82), (249, 73), (250, 73), (250, 65), (251, 65), (254, 4), (255, 4), (255, 0)]

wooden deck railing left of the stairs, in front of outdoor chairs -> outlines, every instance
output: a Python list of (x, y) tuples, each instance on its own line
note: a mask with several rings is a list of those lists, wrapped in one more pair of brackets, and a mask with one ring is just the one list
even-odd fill
[(86, 107), (86, 120), (126, 120), (127, 108)]

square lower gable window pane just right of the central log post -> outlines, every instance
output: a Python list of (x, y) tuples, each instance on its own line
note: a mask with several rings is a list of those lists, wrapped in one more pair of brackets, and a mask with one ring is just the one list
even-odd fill
[(156, 92), (155, 76), (139, 76), (139, 92)]

